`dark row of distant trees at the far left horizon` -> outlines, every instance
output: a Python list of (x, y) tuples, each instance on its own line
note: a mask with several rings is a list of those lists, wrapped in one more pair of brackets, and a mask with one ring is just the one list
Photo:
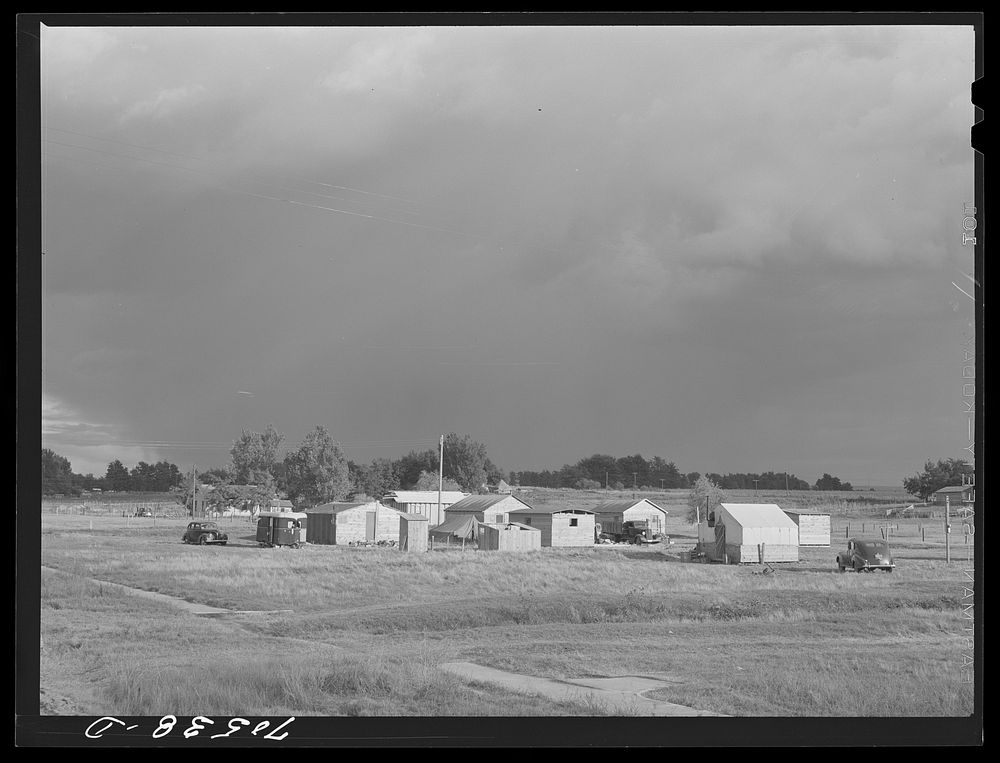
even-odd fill
[(183, 479), (175, 464), (140, 461), (131, 470), (119, 460), (108, 464), (103, 477), (76, 474), (69, 459), (42, 449), (42, 495), (80, 495), (85, 490), (134, 491), (144, 493), (169, 492)]

